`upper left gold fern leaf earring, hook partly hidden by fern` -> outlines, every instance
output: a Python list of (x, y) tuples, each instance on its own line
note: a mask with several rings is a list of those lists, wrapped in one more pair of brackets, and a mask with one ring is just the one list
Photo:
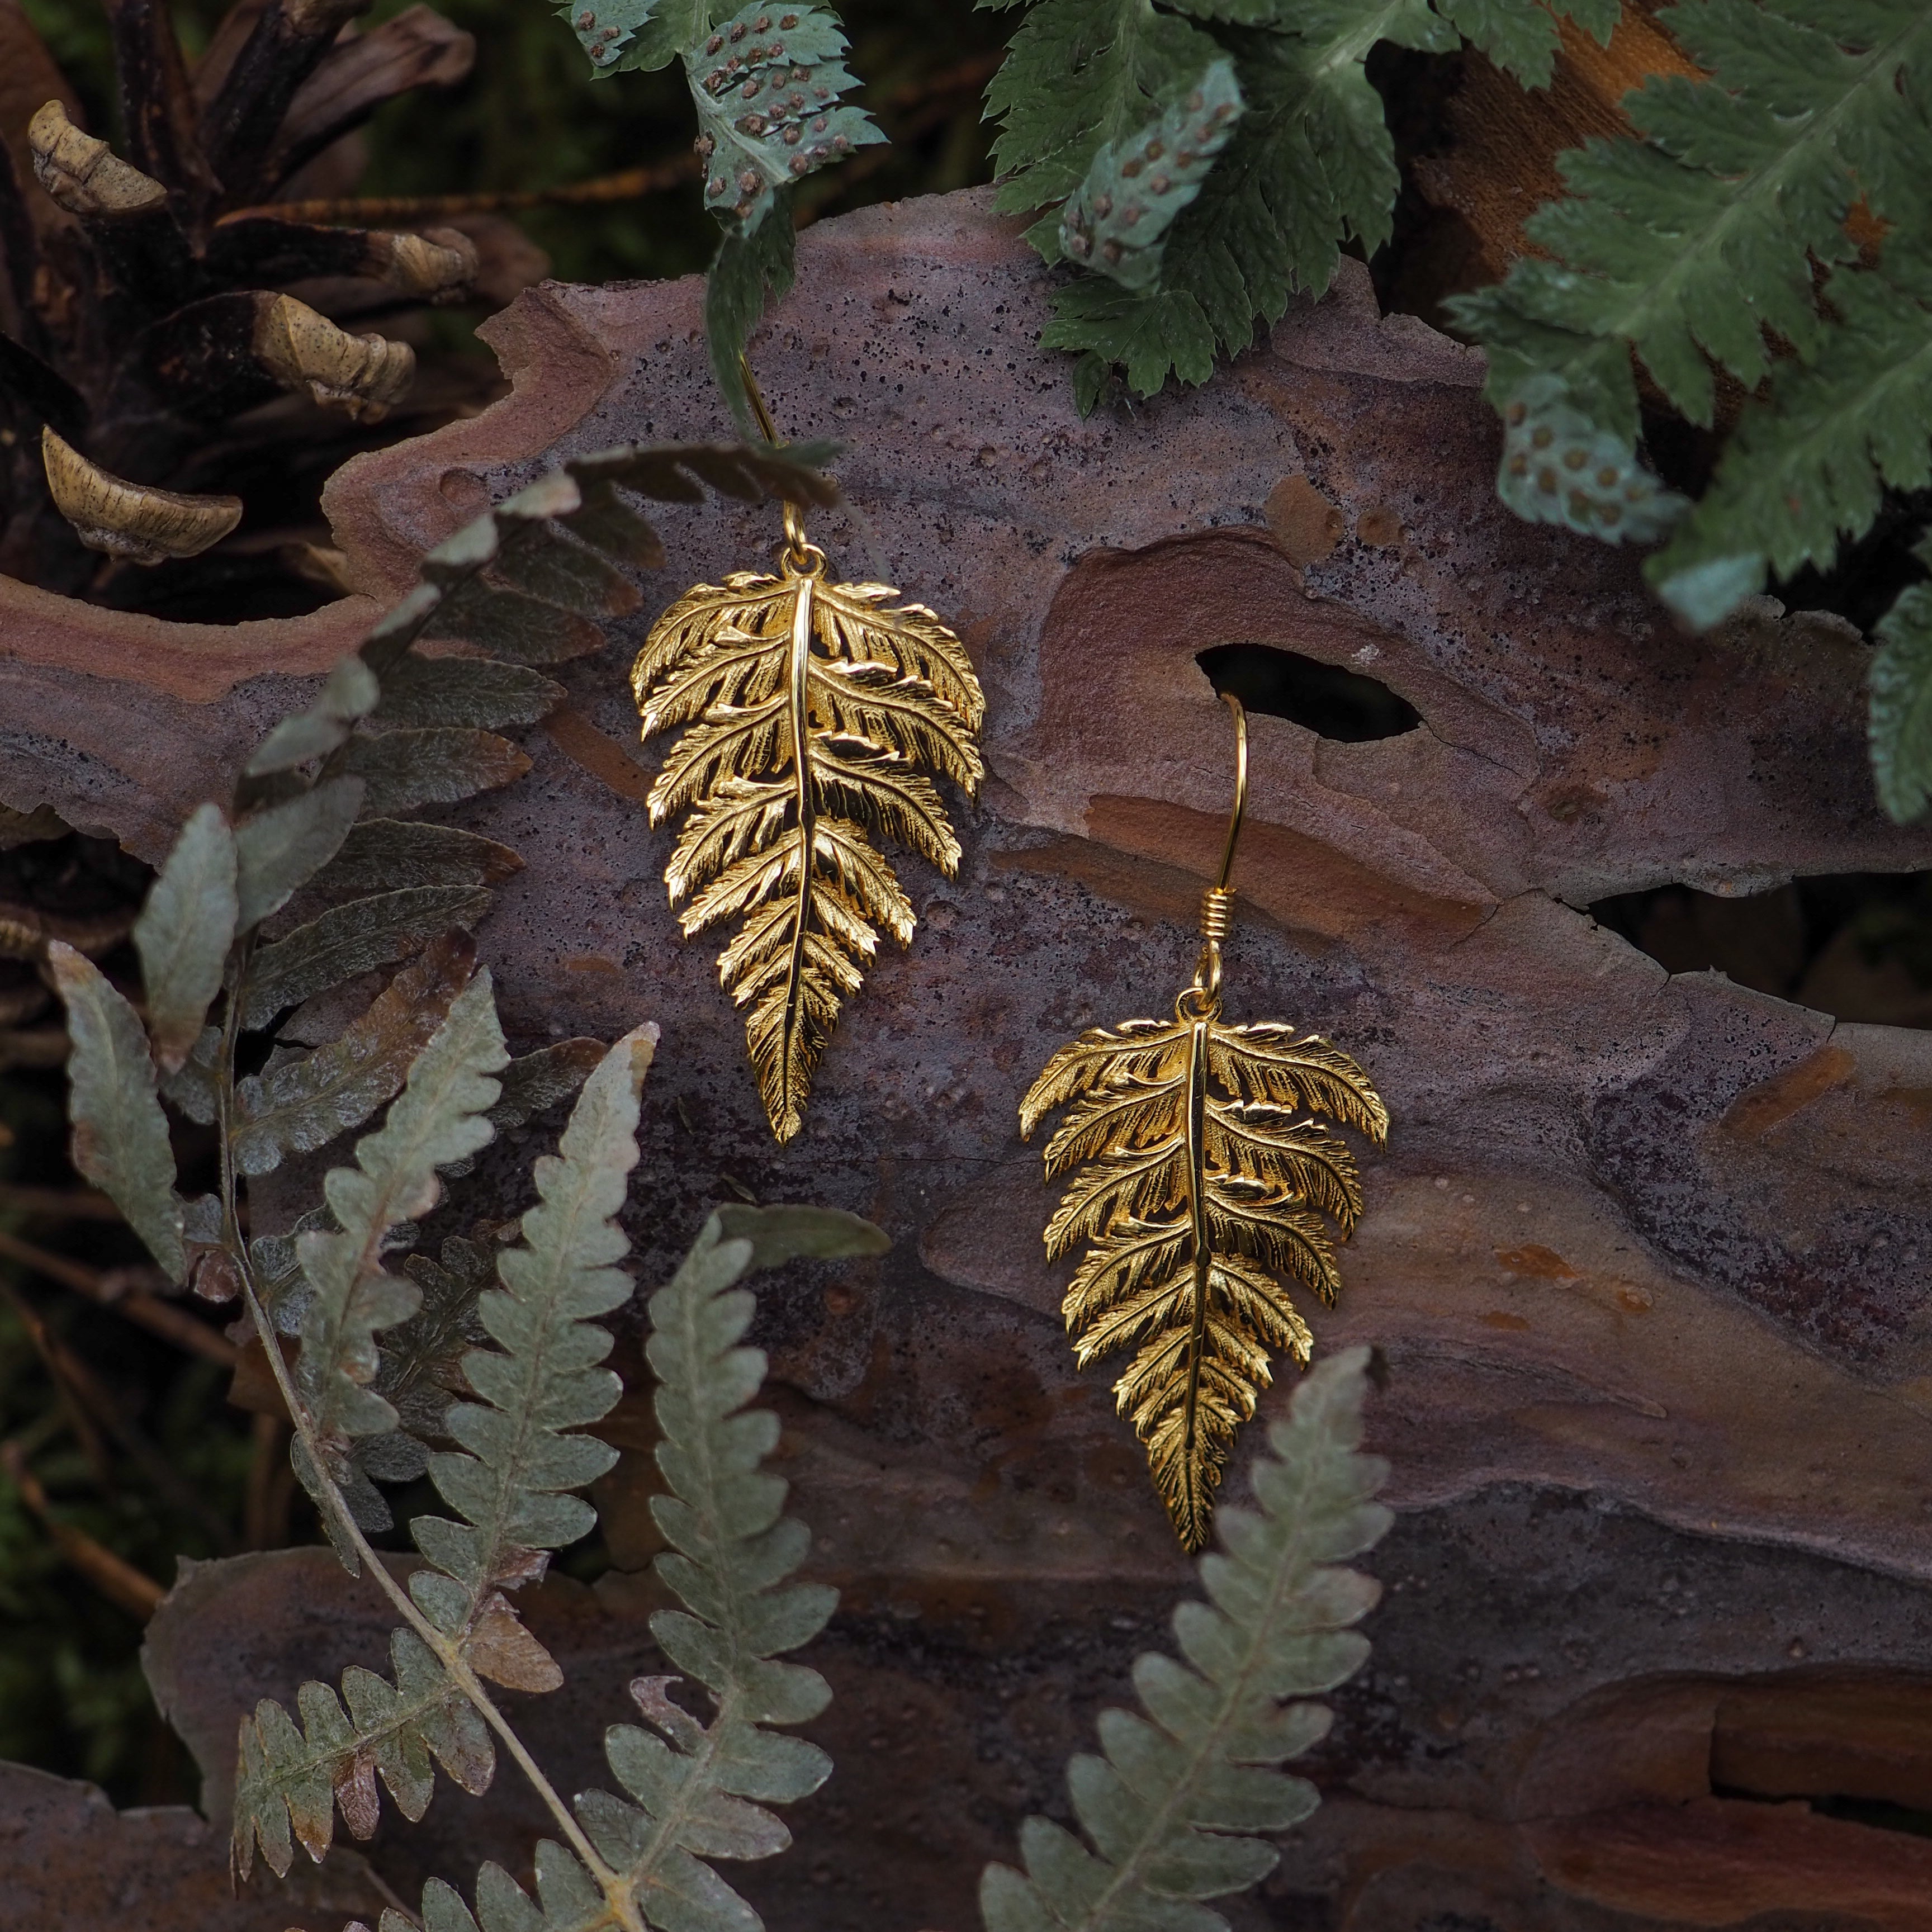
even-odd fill
[[(767, 442), (777, 431), (744, 369)], [(746, 1009), (771, 1130), (804, 1124), (811, 1072), (879, 929), (918, 923), (871, 842), (949, 879), (960, 844), (927, 771), (978, 796), (985, 697), (958, 638), (887, 583), (835, 583), (784, 504), (779, 572), (688, 589), (651, 628), (630, 682), (643, 736), (690, 726), (649, 792), (653, 825), (688, 813), (665, 885), (684, 937), (740, 920), (719, 978)]]

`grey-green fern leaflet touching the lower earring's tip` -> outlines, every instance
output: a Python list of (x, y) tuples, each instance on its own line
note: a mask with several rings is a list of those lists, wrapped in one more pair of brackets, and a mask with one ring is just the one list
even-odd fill
[(1269, 1428), (1260, 1509), (1221, 1513), (1209, 1602), (1175, 1611), (1184, 1662), (1136, 1658), (1142, 1712), (1103, 1712), (1103, 1756), (1066, 1766), (1086, 1841), (1028, 1818), (1024, 1872), (989, 1864), (980, 1882), (987, 1932), (1225, 1932), (1200, 1901), (1264, 1878), (1277, 1853), (1258, 1833), (1316, 1808), (1316, 1787), (1273, 1766), (1327, 1735), (1329, 1712), (1304, 1700), (1368, 1658), (1352, 1625), (1379, 1586), (1337, 1567), (1393, 1520), (1374, 1501), (1387, 1466), (1358, 1453), (1366, 1368), (1366, 1349), (1323, 1362)]

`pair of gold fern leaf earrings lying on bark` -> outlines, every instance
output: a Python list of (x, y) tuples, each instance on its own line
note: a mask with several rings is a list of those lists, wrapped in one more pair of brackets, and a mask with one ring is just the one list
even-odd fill
[[(777, 435), (746, 386), (765, 439)], [(873, 842), (885, 835), (945, 877), (960, 862), (933, 779), (976, 796), (985, 697), (960, 639), (885, 583), (837, 583), (784, 506), (777, 574), (686, 591), (632, 668), (643, 736), (686, 726), (649, 792), (653, 825), (684, 815), (665, 885), (684, 937), (730, 920), (719, 978), (781, 1142), (804, 1124), (811, 1072), (840, 1005), (889, 931), (916, 916)], [(1202, 900), (1202, 949), (1173, 1020), (1092, 1028), (1047, 1061), (1020, 1103), (1032, 1138), (1055, 1109), (1049, 1177), (1072, 1175), (1045, 1229), (1053, 1258), (1086, 1244), (1065, 1318), (1082, 1368), (1130, 1349), (1119, 1410), (1148, 1445), (1186, 1549), (1208, 1540), (1235, 1432), (1269, 1383), (1271, 1352), (1314, 1341), (1277, 1277), (1321, 1300), (1341, 1287), (1329, 1225), (1362, 1213), (1349, 1146), (1389, 1115), (1362, 1068), (1293, 1026), (1227, 1026), (1221, 949), (1248, 798), (1236, 697), (1235, 811)]]

